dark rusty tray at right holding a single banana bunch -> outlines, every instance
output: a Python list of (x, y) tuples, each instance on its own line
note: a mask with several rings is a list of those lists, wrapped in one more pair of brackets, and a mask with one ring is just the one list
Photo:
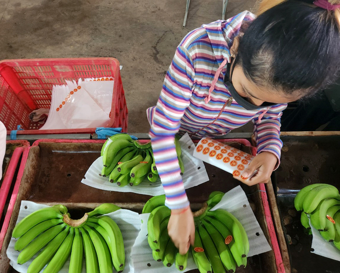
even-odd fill
[(283, 230), (277, 232), (281, 250), (287, 250), (282, 253), (283, 260), (290, 260), (292, 273), (338, 273), (338, 261), (310, 252), (312, 237), (303, 232), (293, 200), (311, 183), (340, 188), (340, 132), (285, 132), (281, 140), (281, 164), (272, 176), (274, 186), (267, 185), (267, 193), (276, 229)]

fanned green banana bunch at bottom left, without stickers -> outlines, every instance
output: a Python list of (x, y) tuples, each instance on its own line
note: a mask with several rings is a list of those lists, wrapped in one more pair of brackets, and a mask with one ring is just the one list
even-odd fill
[[(43, 272), (57, 273), (68, 257), (68, 272), (80, 273), (84, 253), (87, 272), (112, 272), (112, 265), (121, 272), (125, 264), (121, 231), (110, 217), (102, 216), (117, 209), (114, 204), (103, 203), (77, 220), (71, 219), (62, 205), (36, 210), (15, 228), (15, 235), (20, 234), (15, 248), (21, 250), (17, 262), (27, 262), (42, 249), (29, 264), (28, 273), (39, 273), (44, 266)], [(57, 217), (50, 218), (53, 215)], [(37, 224), (29, 228), (23, 223)], [(164, 255), (165, 247), (161, 251)]]

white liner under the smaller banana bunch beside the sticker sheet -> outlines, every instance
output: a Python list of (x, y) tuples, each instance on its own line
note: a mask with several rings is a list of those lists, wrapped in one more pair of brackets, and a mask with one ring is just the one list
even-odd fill
[[(182, 175), (184, 188), (191, 188), (208, 181), (209, 178), (203, 161), (192, 156), (195, 146), (189, 135), (183, 135), (179, 139), (179, 143), (182, 149), (181, 159), (184, 164), (184, 173)], [(102, 157), (99, 157), (88, 168), (85, 178), (81, 180), (81, 183), (93, 188), (109, 191), (134, 192), (152, 196), (164, 194), (160, 179), (151, 183), (146, 178), (139, 185), (132, 187), (129, 185), (119, 187), (116, 183), (110, 183), (108, 177), (99, 176), (102, 166)]]

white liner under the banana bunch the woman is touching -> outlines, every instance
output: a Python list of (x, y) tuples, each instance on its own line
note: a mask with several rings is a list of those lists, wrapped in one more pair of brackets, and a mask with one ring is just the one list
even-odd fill
[[(243, 205), (246, 205), (243, 207)], [(257, 220), (252, 212), (248, 199), (240, 186), (237, 186), (224, 194), (221, 201), (211, 210), (217, 208), (225, 209), (232, 213), (243, 225), (249, 239), (250, 250), (248, 257), (270, 251), (270, 245), (267, 242)], [(147, 243), (147, 219), (150, 213), (139, 214), (142, 221), (140, 232), (132, 247), (132, 259), (134, 269), (138, 273), (166, 273), (177, 272), (174, 264), (171, 267), (165, 267), (162, 262), (157, 262), (152, 258), (152, 250)], [(258, 236), (256, 234), (259, 234)], [(150, 263), (150, 266), (147, 265)], [(197, 268), (191, 252), (189, 253), (187, 267), (184, 271)]]

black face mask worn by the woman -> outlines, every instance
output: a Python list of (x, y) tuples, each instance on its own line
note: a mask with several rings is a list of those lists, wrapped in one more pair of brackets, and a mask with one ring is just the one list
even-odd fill
[[(236, 57), (237, 58), (237, 57)], [(225, 76), (224, 76), (224, 85), (227, 87), (227, 89), (229, 90), (232, 98), (243, 108), (245, 108), (246, 110), (256, 110), (256, 109), (261, 109), (261, 108), (265, 108), (268, 106), (272, 106), (272, 105), (276, 105), (276, 103), (270, 103), (270, 102), (263, 102), (260, 106), (256, 106), (253, 105), (252, 103), (248, 102), (245, 98), (243, 98), (242, 96), (240, 96), (237, 91), (235, 90), (235, 88), (233, 87), (232, 83), (231, 83), (231, 77), (232, 77), (232, 72), (235, 66), (233, 66), (231, 68), (231, 64), (232, 64), (232, 59), (231, 58), (231, 62), (226, 64), (226, 72), (225, 72)], [(235, 60), (236, 61), (236, 60)], [(235, 62), (234, 62), (235, 63)], [(231, 71), (230, 71), (231, 68)]]

